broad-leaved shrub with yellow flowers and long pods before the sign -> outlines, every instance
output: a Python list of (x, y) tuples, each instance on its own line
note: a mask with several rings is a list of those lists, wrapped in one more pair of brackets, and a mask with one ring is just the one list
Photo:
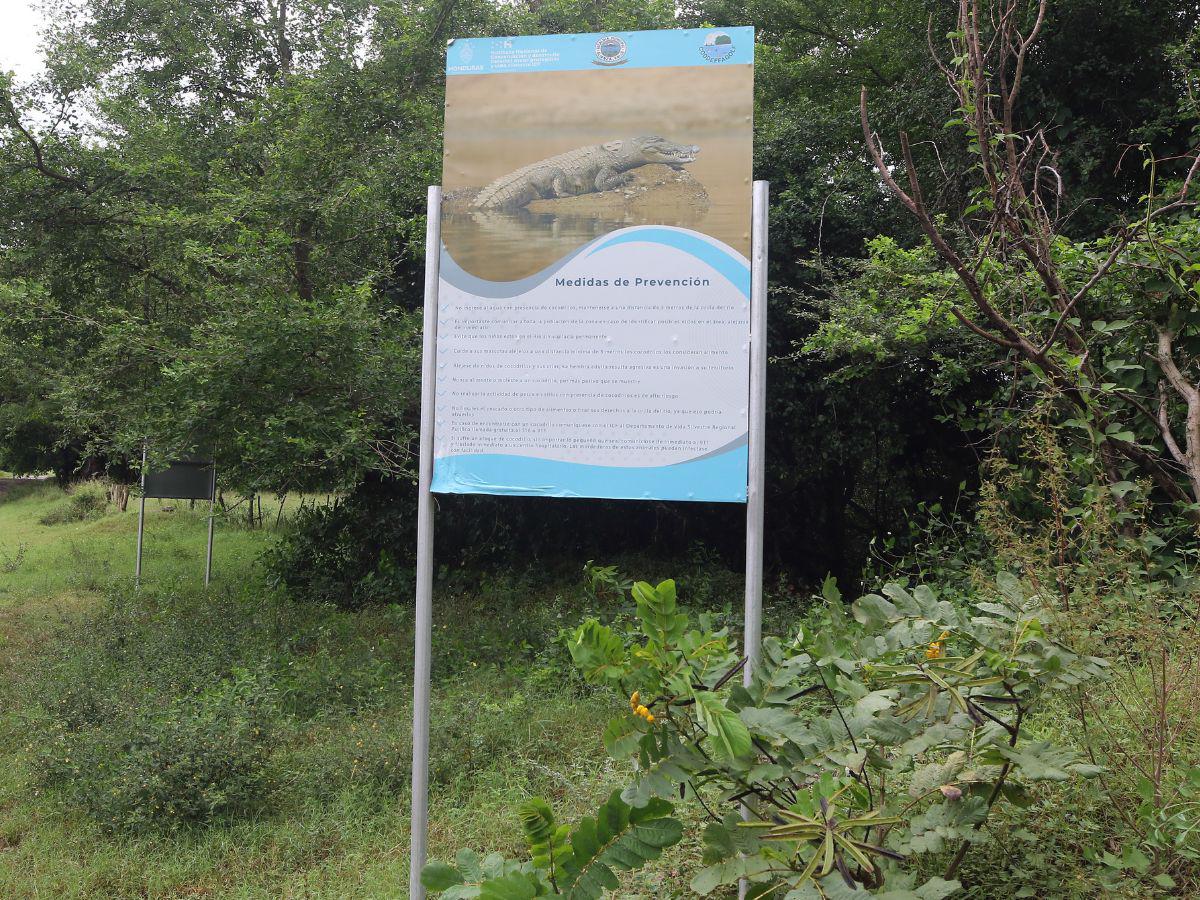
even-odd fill
[[(763, 642), (745, 686), (745, 658), (709, 617), (691, 623), (674, 582), (634, 587), (630, 632), (583, 623), (569, 641), (576, 665), (629, 695), (605, 746), (636, 763), (613, 794), (628, 806), (602, 815), (624, 821), (667, 798), (700, 800), (709, 823), (691, 888), (701, 895), (745, 878), (750, 896), (773, 900), (948, 896), (997, 803), (1033, 782), (1097, 773), (1025, 726), (1046, 695), (1103, 676), (1105, 665), (1055, 642), (1040, 600), (1007, 575), (970, 613), (928, 587), (889, 584), (857, 601), (853, 619), (832, 583), (826, 595), (817, 628)], [(476, 893), (461, 884), (478, 869), (433, 864), (428, 887), (446, 896), (592, 896), (550, 877), (556, 856), (590, 847), (592, 833), (581, 824), (568, 840), (544, 823), (533, 834), (534, 812), (521, 810), (532, 862), (493, 860), (470, 886)], [(930, 857), (942, 859), (941, 876), (928, 877)]]

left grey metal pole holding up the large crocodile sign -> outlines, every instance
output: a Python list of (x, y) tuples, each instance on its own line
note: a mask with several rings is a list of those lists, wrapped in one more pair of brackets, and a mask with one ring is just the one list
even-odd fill
[(430, 661), (433, 642), (433, 384), (437, 376), (442, 188), (431, 186), (425, 224), (425, 331), (421, 344), (421, 462), (416, 487), (416, 617), (413, 661), (413, 808), (408, 896), (424, 900), (430, 822)]

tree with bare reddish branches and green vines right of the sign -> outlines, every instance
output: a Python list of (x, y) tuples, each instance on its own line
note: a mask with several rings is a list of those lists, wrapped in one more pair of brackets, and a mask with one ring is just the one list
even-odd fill
[[(900, 134), (904, 175), (894, 173), (871, 128), (864, 88), (860, 118), (868, 151), (880, 179), (954, 272), (953, 289), (943, 294), (943, 308), (996, 350), (1019, 360), (1038, 385), (1070, 404), (1110, 484), (1122, 482), (1133, 467), (1153, 478), (1172, 500), (1200, 503), (1200, 480), (1189, 472), (1196, 491), (1188, 493), (1172, 470), (1172, 457), (1184, 463), (1189, 457), (1164, 457), (1162, 449), (1147, 448), (1133, 431), (1144, 416), (1159, 426), (1169, 446), (1172, 444), (1165, 424), (1169, 414), (1162, 412), (1156, 418), (1151, 413), (1139, 392), (1141, 382), (1110, 380), (1110, 371), (1141, 371), (1141, 366), (1111, 353), (1120, 348), (1106, 338), (1129, 323), (1111, 328), (1106, 313), (1112, 307), (1097, 298), (1098, 286), (1115, 278), (1120, 268), (1136, 266), (1135, 257), (1163, 246), (1159, 223), (1193, 206), (1189, 191), (1200, 156), (1188, 157), (1187, 174), (1177, 190), (1158, 196), (1152, 184), (1144, 214), (1121, 223), (1099, 242), (1066, 241), (1060, 227), (1062, 179), (1046, 128), (1022, 130), (1018, 121), (1025, 68), (1046, 7), (1046, 0), (1028, 5), (1021, 0), (960, 0), (958, 30), (950, 36), (952, 60), (940, 64), (958, 103), (959, 118), (953, 124), (961, 127), (976, 158), (977, 187), (960, 234), (952, 235), (931, 211), (906, 132)], [(900, 178), (906, 178), (906, 187), (900, 186)], [(1169, 326), (1158, 331), (1160, 364), (1169, 372)], [(1166, 356), (1162, 355), (1164, 347)], [(1176, 390), (1186, 395), (1187, 388), (1180, 382)]]

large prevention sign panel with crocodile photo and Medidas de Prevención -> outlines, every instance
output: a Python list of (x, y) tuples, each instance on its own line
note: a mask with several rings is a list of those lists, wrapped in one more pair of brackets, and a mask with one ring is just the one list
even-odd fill
[(432, 490), (745, 502), (754, 30), (446, 74)]

